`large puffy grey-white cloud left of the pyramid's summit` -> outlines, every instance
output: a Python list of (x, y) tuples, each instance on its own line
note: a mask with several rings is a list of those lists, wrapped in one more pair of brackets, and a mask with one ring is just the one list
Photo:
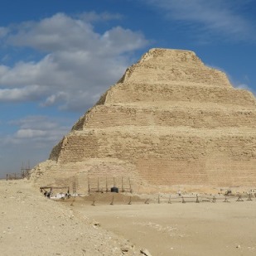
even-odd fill
[(133, 51), (147, 45), (139, 31), (123, 27), (94, 31), (88, 21), (99, 18), (118, 15), (92, 12), (84, 13), (82, 19), (57, 13), (39, 22), (12, 26), (5, 34), (9, 46), (33, 48), (43, 56), (13, 66), (0, 65), (0, 102), (36, 100), (43, 107), (57, 104), (60, 109), (80, 111), (94, 104), (123, 75)]

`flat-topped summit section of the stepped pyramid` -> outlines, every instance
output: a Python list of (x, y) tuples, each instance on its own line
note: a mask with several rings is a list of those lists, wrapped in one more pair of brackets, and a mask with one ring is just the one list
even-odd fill
[(201, 83), (231, 87), (225, 73), (203, 64), (193, 51), (152, 49), (132, 65), (120, 80), (122, 83), (172, 84)]

